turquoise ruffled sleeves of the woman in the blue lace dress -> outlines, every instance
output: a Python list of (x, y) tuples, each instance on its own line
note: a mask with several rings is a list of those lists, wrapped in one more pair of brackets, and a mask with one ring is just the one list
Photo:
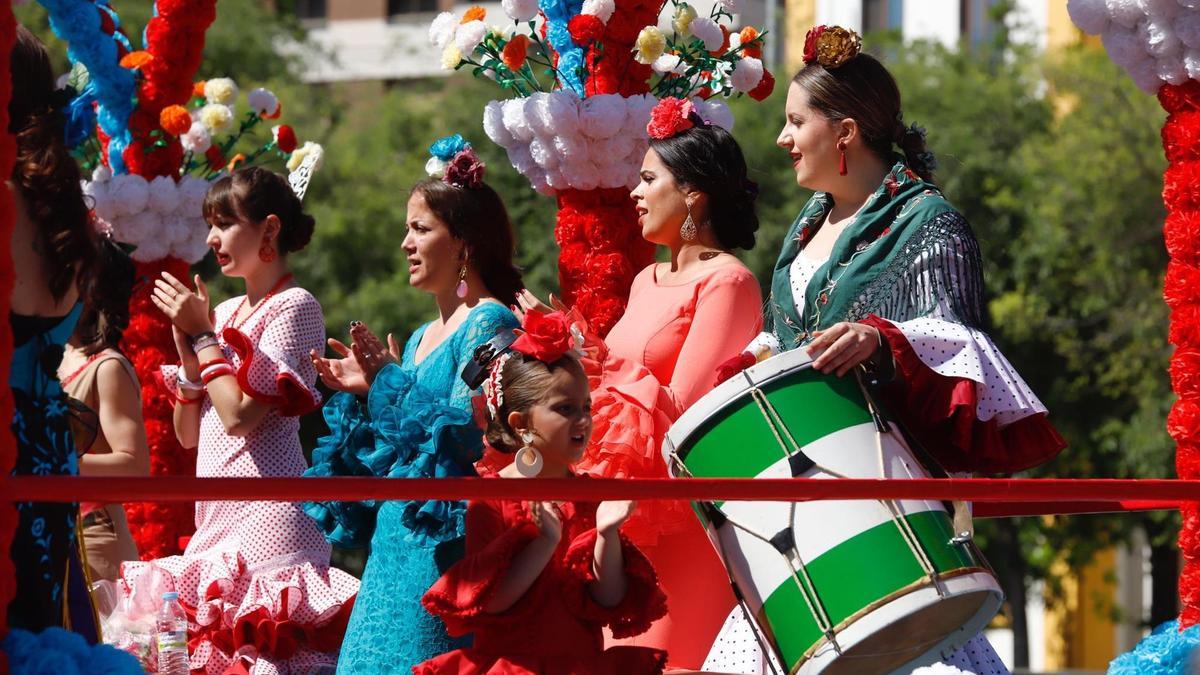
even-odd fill
[[(469, 466), (482, 453), (470, 413), (448, 405), (396, 364), (379, 371), (366, 410), (349, 394), (338, 394), (326, 406), (325, 420), (330, 436), (318, 441), (313, 466), (305, 476), (440, 478), (448, 473), (439, 458)], [(400, 503), (407, 540), (432, 546), (462, 537), (464, 502)], [(373, 533), (378, 503), (306, 503), (304, 508), (330, 540), (361, 546)]]

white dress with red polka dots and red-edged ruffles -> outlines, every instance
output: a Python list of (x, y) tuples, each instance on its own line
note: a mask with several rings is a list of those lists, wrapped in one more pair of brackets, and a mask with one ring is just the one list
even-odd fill
[[(242, 392), (274, 410), (235, 437), (205, 399), (196, 474), (300, 476), (307, 464), (298, 416), (320, 401), (308, 359), (310, 350), (324, 348), (320, 305), (307, 291), (289, 288), (234, 325), (241, 301), (216, 309), (221, 347)], [(163, 369), (163, 381), (174, 387), (174, 366)], [(299, 504), (197, 502), (196, 534), (184, 555), (126, 562), (121, 574), (140, 603), (156, 603), (152, 596), (161, 591), (179, 592), (193, 673), (218, 674), (239, 662), (252, 674), (308, 673), (336, 663), (359, 589), (356, 579), (329, 567), (329, 554)]]

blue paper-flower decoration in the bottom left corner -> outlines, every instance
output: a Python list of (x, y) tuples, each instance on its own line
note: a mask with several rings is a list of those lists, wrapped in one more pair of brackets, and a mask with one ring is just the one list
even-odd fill
[(78, 633), (47, 628), (30, 633), (13, 628), (0, 644), (10, 673), (54, 673), (55, 675), (140, 674), (133, 655), (109, 645), (89, 645)]

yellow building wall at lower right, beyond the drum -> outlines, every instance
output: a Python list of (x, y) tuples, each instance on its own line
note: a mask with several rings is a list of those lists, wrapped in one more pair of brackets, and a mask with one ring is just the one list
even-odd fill
[(1062, 580), (1063, 601), (1045, 611), (1045, 670), (1104, 670), (1116, 656), (1116, 550), (1096, 556), (1084, 569), (1058, 562), (1051, 574)]

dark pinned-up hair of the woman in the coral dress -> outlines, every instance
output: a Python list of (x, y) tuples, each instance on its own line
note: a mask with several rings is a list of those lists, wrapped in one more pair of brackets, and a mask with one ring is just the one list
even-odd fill
[(708, 220), (721, 249), (754, 249), (758, 186), (746, 175), (746, 160), (733, 136), (715, 124), (697, 124), (668, 138), (650, 139), (680, 186), (708, 195)]

